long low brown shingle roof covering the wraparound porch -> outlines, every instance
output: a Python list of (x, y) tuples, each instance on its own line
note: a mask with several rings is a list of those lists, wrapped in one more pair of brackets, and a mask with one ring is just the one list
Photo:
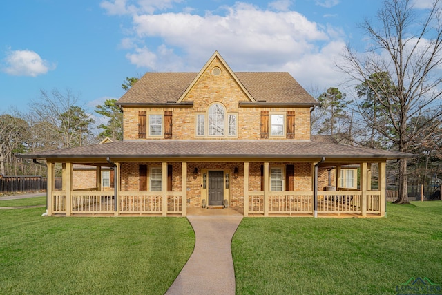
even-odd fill
[(412, 154), (295, 140), (144, 140), (79, 146), (19, 158), (411, 158)]

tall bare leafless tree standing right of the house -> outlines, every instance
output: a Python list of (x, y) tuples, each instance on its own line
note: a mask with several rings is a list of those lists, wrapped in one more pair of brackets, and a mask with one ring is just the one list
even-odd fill
[[(338, 65), (353, 82), (365, 83), (383, 106), (392, 131), (372, 126), (398, 151), (410, 152), (416, 135), (430, 136), (441, 124), (441, 1), (435, 0), (425, 13), (414, 9), (411, 0), (384, 1), (377, 14), (380, 26), (370, 20), (361, 24), (371, 47), (359, 55), (347, 46), (347, 62)], [(374, 73), (385, 73), (392, 83), (377, 84), (378, 79), (370, 79)], [(425, 120), (420, 120), (423, 115)], [(408, 202), (406, 159), (399, 163), (396, 202)]]

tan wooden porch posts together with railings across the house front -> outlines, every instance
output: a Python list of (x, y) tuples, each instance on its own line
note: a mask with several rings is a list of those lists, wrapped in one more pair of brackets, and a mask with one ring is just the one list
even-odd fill
[[(156, 163), (158, 164), (158, 163)], [(201, 163), (181, 162), (182, 169), (179, 171), (181, 185), (172, 191), (168, 186), (169, 162), (161, 162), (162, 182), (161, 191), (124, 191), (121, 189), (121, 165), (115, 163), (115, 189), (114, 191), (102, 191), (99, 180), (97, 187), (74, 190), (73, 187), (73, 163), (64, 163), (63, 191), (55, 191), (53, 182), (48, 182), (48, 215), (66, 216), (186, 216), (189, 208), (191, 194), (195, 190), (189, 187), (201, 187), (203, 191), (204, 173), (192, 175), (197, 171), (196, 166), (204, 166)], [(232, 164), (232, 163), (230, 163)], [(229, 167), (233, 167), (230, 165)], [(314, 187), (310, 191), (271, 191), (269, 166), (271, 163), (262, 162), (262, 191), (256, 191), (256, 186), (249, 185), (253, 175), (249, 173), (251, 163), (240, 163), (240, 169), (233, 169), (226, 173), (226, 185), (231, 186), (231, 191), (240, 196), (233, 196), (240, 200), (241, 206), (233, 205), (233, 209), (244, 216), (384, 216), (385, 215), (385, 162), (379, 162), (378, 189), (371, 189), (370, 164), (361, 163), (361, 183), (359, 189), (343, 189), (338, 187), (336, 191), (316, 191)], [(256, 163), (254, 163), (256, 166)], [(274, 164), (274, 163), (273, 163)], [(316, 163), (310, 163), (314, 167)], [(207, 166), (207, 164), (206, 164)], [(48, 179), (53, 180), (54, 163), (48, 163)], [(97, 178), (99, 178), (100, 166), (97, 166)], [(239, 175), (237, 174), (239, 170)], [(256, 169), (255, 169), (256, 170)], [(311, 169), (317, 185), (317, 174)], [(189, 172), (190, 171), (190, 172)], [(202, 170), (206, 171), (206, 170)], [(229, 172), (229, 170), (226, 170)], [(230, 175), (230, 176), (229, 176)], [(233, 176), (234, 175), (234, 176)], [(189, 176), (189, 177), (188, 177)], [(206, 177), (204, 175), (204, 177)], [(234, 179), (233, 179), (234, 178)], [(237, 179), (238, 178), (238, 179)], [(229, 184), (229, 182), (234, 183)], [(315, 181), (316, 180), (316, 181)], [(176, 181), (175, 181), (176, 182)], [(201, 182), (201, 185), (200, 185)], [(339, 183), (339, 180), (336, 180)], [(233, 190), (236, 186), (237, 189)], [(238, 190), (238, 186), (241, 190)], [(184, 189), (183, 189), (184, 188)], [(205, 188), (205, 184), (204, 184)], [(190, 193), (189, 193), (190, 192)], [(200, 197), (200, 196), (199, 196)], [(226, 196), (227, 204), (230, 204), (232, 196)], [(200, 203), (201, 204), (201, 203)], [(202, 202), (204, 204), (204, 202)], [(204, 207), (201, 205), (192, 207)]]

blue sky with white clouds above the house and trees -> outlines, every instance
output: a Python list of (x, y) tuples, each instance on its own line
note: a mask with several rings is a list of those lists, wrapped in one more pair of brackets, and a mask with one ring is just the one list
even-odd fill
[[(427, 3), (420, 0), (417, 3)], [(0, 113), (40, 89), (92, 112), (126, 77), (195, 72), (218, 50), (233, 71), (287, 71), (307, 90), (343, 81), (334, 64), (381, 0), (22, 0), (0, 10)]]

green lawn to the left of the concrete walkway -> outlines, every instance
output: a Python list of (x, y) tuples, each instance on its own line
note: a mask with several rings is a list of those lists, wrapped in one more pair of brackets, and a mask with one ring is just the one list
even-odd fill
[(42, 212), (0, 210), (0, 294), (164, 294), (193, 251), (185, 218)]

